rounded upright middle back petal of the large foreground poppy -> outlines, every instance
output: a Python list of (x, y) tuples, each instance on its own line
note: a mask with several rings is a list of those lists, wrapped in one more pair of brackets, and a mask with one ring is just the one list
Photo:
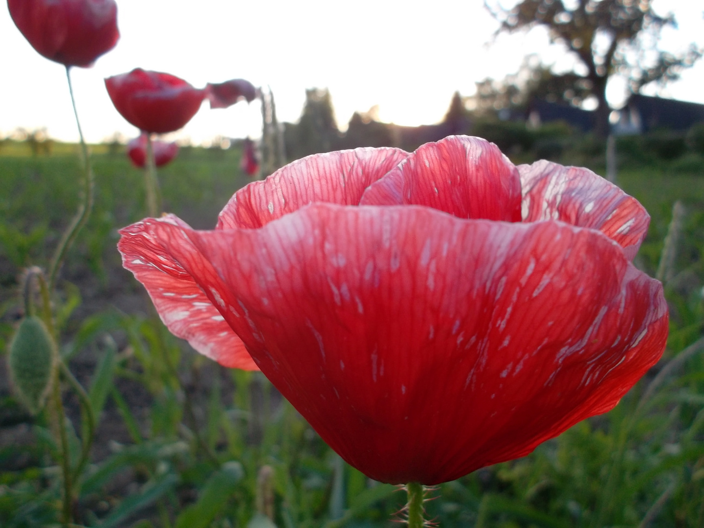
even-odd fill
[(419, 205), (458, 218), (520, 221), (518, 172), (486, 139), (449, 136), (427, 143), (372, 184), (360, 205)]

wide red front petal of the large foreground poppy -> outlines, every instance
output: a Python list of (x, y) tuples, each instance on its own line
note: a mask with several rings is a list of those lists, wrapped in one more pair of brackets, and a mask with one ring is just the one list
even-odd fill
[(524, 455), (614, 406), (665, 346), (660, 283), (562, 222), (316, 203), (259, 230), (150, 232), (322, 438), (384, 482)]

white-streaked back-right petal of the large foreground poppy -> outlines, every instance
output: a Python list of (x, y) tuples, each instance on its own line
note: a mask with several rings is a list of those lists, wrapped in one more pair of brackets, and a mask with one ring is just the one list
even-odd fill
[(524, 222), (552, 219), (591, 227), (617, 241), (629, 260), (636, 256), (650, 223), (636, 199), (586, 168), (541, 160), (518, 171)]

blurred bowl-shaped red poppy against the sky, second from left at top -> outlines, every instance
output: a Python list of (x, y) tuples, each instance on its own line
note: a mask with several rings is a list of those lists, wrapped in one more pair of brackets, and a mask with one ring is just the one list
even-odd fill
[(163, 134), (184, 127), (205, 96), (179, 77), (135, 68), (105, 80), (115, 108), (144, 132)]

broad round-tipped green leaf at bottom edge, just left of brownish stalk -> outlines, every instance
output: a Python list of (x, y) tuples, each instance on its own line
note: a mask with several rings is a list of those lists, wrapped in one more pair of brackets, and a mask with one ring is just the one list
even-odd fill
[(244, 475), (237, 462), (228, 462), (215, 472), (195, 504), (185, 508), (176, 520), (176, 528), (206, 528), (230, 500), (237, 489), (237, 483)]

